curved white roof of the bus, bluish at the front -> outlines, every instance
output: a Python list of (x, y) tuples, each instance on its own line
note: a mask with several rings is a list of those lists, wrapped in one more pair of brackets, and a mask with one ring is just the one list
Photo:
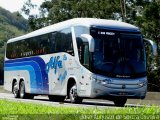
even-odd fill
[(131, 32), (139, 32), (139, 28), (136, 26), (133, 26), (128, 23), (115, 21), (115, 20), (106, 20), (106, 19), (97, 19), (97, 18), (74, 18), (70, 20), (66, 20), (63, 22), (59, 22), (44, 28), (41, 28), (39, 30), (33, 31), (31, 33), (28, 33), (26, 35), (22, 35), (20, 37), (12, 38), (7, 41), (7, 43), (15, 42), (22, 39), (27, 39), (30, 37), (43, 35), (46, 33), (58, 31), (67, 27), (71, 26), (85, 26), (85, 27), (101, 27), (101, 28), (109, 28), (112, 30), (123, 30), (123, 31), (131, 31)]

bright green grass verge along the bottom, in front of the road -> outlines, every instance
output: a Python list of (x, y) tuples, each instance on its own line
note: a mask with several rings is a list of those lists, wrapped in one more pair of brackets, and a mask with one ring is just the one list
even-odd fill
[[(93, 119), (160, 119), (160, 107), (82, 108), (48, 106), (33, 103), (0, 100), (0, 116), (3, 119), (37, 120), (93, 120)], [(137, 118), (138, 117), (138, 118)]]

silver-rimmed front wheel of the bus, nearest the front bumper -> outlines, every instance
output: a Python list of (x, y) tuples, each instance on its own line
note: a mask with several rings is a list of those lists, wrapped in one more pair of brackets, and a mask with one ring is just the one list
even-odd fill
[(78, 97), (77, 94), (77, 85), (74, 84), (69, 90), (69, 98), (71, 103), (82, 103), (82, 98)]

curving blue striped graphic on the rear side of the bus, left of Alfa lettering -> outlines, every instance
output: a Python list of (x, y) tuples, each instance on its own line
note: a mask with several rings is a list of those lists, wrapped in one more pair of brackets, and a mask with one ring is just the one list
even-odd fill
[(31, 92), (48, 94), (48, 74), (45, 71), (45, 66), (45, 62), (42, 58), (32, 57), (6, 61), (4, 70), (27, 70), (30, 75)]

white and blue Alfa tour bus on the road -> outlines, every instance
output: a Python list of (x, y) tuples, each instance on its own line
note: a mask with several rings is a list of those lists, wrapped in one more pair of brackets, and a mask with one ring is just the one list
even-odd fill
[(52, 101), (83, 98), (144, 99), (144, 40), (139, 28), (113, 20), (75, 18), (8, 40), (4, 88), (15, 98), (48, 95)]

